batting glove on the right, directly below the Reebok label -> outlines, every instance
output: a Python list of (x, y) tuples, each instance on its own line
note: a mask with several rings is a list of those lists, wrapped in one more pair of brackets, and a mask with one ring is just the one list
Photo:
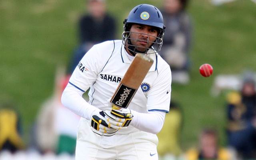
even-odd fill
[(128, 127), (133, 117), (130, 109), (117, 108), (116, 106), (113, 106), (111, 111), (105, 111), (105, 115), (110, 127), (117, 130)]

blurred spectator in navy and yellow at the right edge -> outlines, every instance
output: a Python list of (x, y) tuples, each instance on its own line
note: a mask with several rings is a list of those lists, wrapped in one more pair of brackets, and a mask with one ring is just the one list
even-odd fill
[(256, 158), (256, 91), (253, 77), (246, 76), (241, 93), (228, 98), (228, 144), (242, 158)]

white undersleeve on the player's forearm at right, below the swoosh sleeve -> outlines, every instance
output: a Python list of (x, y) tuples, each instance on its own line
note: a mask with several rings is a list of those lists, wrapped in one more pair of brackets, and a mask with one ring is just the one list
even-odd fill
[(157, 134), (164, 125), (164, 118), (166, 112), (150, 111), (148, 113), (139, 113), (131, 110), (134, 116), (131, 125), (144, 132)]

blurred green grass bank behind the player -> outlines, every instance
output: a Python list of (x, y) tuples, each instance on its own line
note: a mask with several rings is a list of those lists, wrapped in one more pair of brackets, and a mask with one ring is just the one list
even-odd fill
[[(130, 9), (141, 3), (158, 7), (156, 0), (108, 0), (116, 16), (119, 37)], [(24, 138), (42, 102), (53, 91), (56, 66), (68, 64), (77, 44), (77, 20), (84, 13), (84, 0), (0, 0), (0, 100), (11, 100), (22, 116)], [(172, 85), (172, 100), (184, 111), (182, 147), (195, 145), (200, 129), (216, 127), (225, 144), (225, 97), (210, 95), (218, 74), (240, 74), (256, 70), (256, 4), (237, 0), (212, 6), (210, 0), (191, 0), (188, 12), (194, 24), (191, 82)], [(198, 68), (214, 67), (210, 78)]]

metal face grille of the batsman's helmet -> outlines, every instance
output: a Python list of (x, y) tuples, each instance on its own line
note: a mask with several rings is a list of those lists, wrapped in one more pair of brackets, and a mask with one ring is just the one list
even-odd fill
[[(131, 38), (131, 34), (136, 34), (137, 38)], [(138, 36), (139, 35), (145, 35), (148, 38), (144, 38), (144, 39), (139, 39)], [(155, 41), (152, 42), (149, 39), (151, 39), (150, 37), (154, 37)], [(163, 34), (160, 34), (160, 37), (156, 37), (156, 36), (150, 36), (148, 34), (142, 34), (139, 32), (123, 32), (122, 33), (122, 43), (124, 45), (124, 47), (126, 47), (130, 52), (136, 54), (136, 53), (143, 53), (143, 54), (154, 54), (157, 51), (161, 50), (162, 44), (163, 44)], [(147, 45), (146, 46), (138, 46), (136, 45), (137, 42), (146, 42)], [(133, 42), (133, 44), (132, 44)], [(155, 49), (154, 49), (155, 48)], [(144, 51), (140, 51), (143, 50)]]

